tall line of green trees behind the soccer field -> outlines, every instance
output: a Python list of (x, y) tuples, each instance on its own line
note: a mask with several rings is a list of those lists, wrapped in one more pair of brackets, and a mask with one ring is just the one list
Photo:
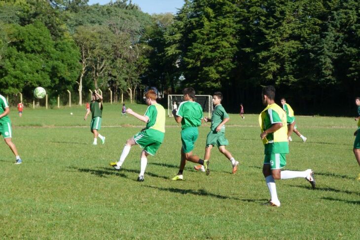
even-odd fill
[(351, 114), (359, 15), (357, 0), (185, 0), (175, 15), (152, 16), (128, 0), (0, 0), (1, 93), (71, 89), (81, 103), (93, 88), (116, 101), (192, 86), (257, 111), (271, 84), (296, 113)]

